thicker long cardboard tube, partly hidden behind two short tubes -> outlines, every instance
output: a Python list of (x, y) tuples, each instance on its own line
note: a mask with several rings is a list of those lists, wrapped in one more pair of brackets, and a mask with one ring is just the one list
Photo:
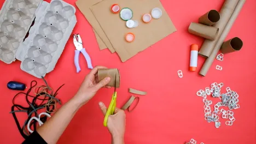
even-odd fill
[(219, 40), (219, 37), (223, 33), (223, 29), (226, 26), (226, 23), (228, 23), (230, 16), (234, 12), (234, 9), (236, 8), (236, 5), (239, 0), (226, 0), (222, 6), (222, 9), (220, 10), (220, 20), (216, 22), (213, 26), (219, 28), (219, 33), (214, 40), (208, 40), (206, 39), (199, 51), (199, 55), (203, 57), (209, 57), (213, 51), (214, 46), (216, 45), (217, 41)]

